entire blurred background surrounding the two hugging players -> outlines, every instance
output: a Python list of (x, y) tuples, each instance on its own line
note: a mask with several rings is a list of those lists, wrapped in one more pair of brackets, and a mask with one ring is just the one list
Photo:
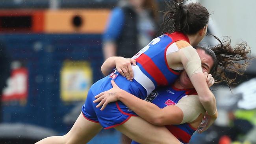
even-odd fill
[[(103, 77), (104, 59), (131, 57), (156, 37), (164, 0), (142, 7), (138, 1), (0, 0), (0, 144), (32, 144), (69, 131), (89, 87)], [(232, 45), (246, 41), (256, 55), (255, 0), (193, 2), (212, 13), (208, 33), (229, 36)], [(216, 41), (206, 37), (202, 44)], [(190, 144), (256, 144), (255, 77), (253, 60), (237, 84), (211, 88), (219, 118)], [(128, 141), (109, 129), (89, 144)]]

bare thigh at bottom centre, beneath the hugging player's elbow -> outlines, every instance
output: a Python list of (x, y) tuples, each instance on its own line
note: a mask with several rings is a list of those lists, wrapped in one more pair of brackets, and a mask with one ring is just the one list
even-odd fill
[(141, 144), (180, 144), (166, 127), (154, 126), (139, 116), (132, 116), (115, 129)]

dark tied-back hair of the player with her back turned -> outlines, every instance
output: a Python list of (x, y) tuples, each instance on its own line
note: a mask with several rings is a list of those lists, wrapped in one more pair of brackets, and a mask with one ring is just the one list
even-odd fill
[(210, 17), (208, 10), (199, 3), (191, 2), (184, 5), (185, 1), (187, 0), (165, 1), (167, 12), (163, 16), (159, 35), (175, 31), (191, 35), (208, 24)]

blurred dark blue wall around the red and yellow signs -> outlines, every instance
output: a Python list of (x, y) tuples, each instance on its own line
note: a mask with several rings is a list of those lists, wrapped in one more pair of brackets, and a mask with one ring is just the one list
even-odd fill
[(10, 102), (3, 107), (6, 123), (26, 123), (65, 133), (70, 129), (63, 116), (78, 102), (60, 99), (60, 70), (64, 60), (91, 63), (93, 81), (102, 78), (101, 35), (83, 34), (1, 34), (13, 61), (28, 68), (29, 88), (25, 105)]

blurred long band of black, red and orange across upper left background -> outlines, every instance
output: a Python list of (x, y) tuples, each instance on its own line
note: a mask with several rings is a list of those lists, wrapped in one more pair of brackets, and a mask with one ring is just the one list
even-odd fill
[(95, 33), (104, 31), (108, 9), (0, 10), (0, 33)]

